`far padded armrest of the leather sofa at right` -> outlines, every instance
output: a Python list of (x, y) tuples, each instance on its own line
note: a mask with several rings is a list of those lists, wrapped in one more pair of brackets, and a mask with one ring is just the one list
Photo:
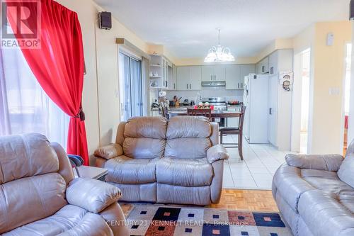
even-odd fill
[(343, 156), (339, 154), (287, 154), (285, 161), (288, 165), (300, 169), (338, 172)]

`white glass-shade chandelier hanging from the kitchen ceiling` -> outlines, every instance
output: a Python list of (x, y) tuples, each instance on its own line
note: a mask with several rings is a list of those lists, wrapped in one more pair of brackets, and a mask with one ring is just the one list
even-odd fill
[(229, 47), (223, 47), (220, 44), (220, 29), (218, 28), (217, 30), (219, 30), (218, 44), (216, 47), (212, 46), (210, 48), (204, 62), (233, 62), (235, 57), (232, 55)]

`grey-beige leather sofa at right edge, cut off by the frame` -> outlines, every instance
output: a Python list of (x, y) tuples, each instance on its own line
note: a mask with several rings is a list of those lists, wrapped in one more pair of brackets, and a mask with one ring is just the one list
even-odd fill
[(354, 235), (354, 145), (338, 154), (287, 154), (273, 197), (294, 235)]

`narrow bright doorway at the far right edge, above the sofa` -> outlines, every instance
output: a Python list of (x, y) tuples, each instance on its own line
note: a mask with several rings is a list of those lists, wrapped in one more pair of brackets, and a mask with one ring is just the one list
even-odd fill
[(350, 71), (352, 59), (352, 44), (346, 44), (346, 62), (345, 62), (345, 79), (344, 79), (344, 127), (343, 127), (343, 154), (346, 154), (348, 147), (348, 119), (350, 106)]

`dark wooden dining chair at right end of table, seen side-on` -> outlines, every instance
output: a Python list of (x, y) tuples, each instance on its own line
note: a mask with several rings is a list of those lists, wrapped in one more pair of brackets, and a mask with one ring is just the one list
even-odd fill
[[(220, 143), (222, 145), (236, 145), (236, 146), (232, 146), (232, 147), (237, 147), (239, 148), (239, 155), (241, 160), (244, 159), (244, 156), (242, 154), (242, 140), (243, 140), (243, 130), (244, 130), (244, 114), (246, 111), (246, 106), (242, 106), (241, 107), (241, 113), (239, 116), (239, 127), (225, 127), (225, 128), (220, 128)], [(234, 143), (234, 142), (223, 142), (222, 141), (222, 137), (224, 135), (238, 135), (238, 143)], [(230, 147), (230, 146), (229, 146)]]

